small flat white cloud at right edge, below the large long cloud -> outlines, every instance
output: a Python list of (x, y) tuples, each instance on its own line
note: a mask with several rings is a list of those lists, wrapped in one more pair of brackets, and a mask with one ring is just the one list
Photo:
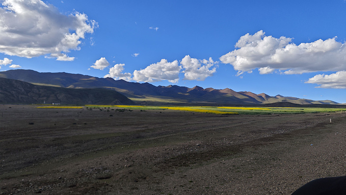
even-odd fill
[(337, 71), (330, 75), (315, 75), (305, 83), (320, 85), (317, 88), (346, 89), (346, 71)]

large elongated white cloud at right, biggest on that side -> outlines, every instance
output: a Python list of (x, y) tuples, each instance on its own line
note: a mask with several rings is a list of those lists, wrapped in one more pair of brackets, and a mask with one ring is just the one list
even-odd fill
[(336, 37), (296, 45), (292, 38), (265, 36), (263, 31), (242, 36), (236, 49), (220, 57), (231, 64), (238, 75), (258, 68), (260, 74), (275, 69), (283, 74), (303, 74), (316, 71), (346, 70), (346, 45)]

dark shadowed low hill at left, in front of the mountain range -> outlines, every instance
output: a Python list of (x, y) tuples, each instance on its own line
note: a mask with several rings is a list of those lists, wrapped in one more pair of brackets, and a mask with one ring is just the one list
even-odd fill
[(0, 78), (1, 104), (135, 104), (126, 96), (102, 88), (69, 89), (62, 87), (39, 86), (23, 81)]

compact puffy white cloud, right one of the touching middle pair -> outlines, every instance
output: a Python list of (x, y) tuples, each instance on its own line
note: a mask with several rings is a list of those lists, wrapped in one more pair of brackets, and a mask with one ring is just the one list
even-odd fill
[[(217, 67), (215, 64), (217, 63), (218, 62), (214, 62), (211, 58), (209, 58), (209, 60), (198, 60), (196, 58), (191, 58), (189, 55), (185, 56), (180, 61), (182, 68), (184, 68), (182, 71), (184, 73), (184, 80), (204, 81), (205, 78), (211, 77), (212, 74), (216, 72)], [(211, 67), (212, 69), (209, 69)]]

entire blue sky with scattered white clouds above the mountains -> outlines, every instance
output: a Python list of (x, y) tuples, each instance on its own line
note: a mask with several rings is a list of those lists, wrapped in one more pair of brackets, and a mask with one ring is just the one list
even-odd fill
[(0, 71), (346, 103), (343, 0), (0, 2)]

